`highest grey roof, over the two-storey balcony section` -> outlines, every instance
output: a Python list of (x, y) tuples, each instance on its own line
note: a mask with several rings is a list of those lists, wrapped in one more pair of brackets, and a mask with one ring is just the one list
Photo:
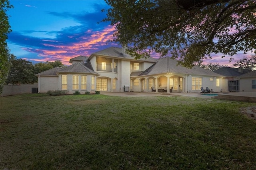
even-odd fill
[[(116, 57), (116, 58), (122, 58), (122, 59), (130, 59), (130, 60), (135, 60), (134, 57), (128, 55), (128, 54), (123, 54), (122, 49), (118, 47), (109, 47), (107, 49), (98, 51), (96, 53), (92, 53), (89, 57), (89, 59), (94, 56), (94, 55), (103, 55), (103, 56), (108, 56), (108, 57)], [(152, 63), (156, 63), (157, 59), (154, 59), (152, 57), (149, 57), (148, 59), (138, 59), (136, 61), (148, 61)]]

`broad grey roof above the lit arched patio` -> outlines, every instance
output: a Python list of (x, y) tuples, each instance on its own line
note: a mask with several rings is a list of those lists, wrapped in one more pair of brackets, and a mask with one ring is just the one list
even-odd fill
[[(196, 75), (204, 75), (204, 76), (219, 76), (222, 75), (217, 74), (215, 72), (211, 72), (199, 66), (194, 66), (189, 69), (184, 66), (177, 65), (178, 61), (171, 59), (170, 57), (164, 57), (158, 60), (157, 63), (153, 64), (150, 68), (140, 73), (138, 76), (144, 75), (153, 75), (160, 73), (181, 73), (181, 74), (196, 74)], [(132, 75), (132, 74), (131, 74)]]

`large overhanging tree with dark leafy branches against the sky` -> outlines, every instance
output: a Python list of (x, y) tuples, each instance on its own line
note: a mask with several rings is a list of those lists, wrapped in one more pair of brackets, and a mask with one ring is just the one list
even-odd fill
[(150, 53), (179, 58), (191, 68), (212, 53), (233, 56), (256, 49), (255, 0), (105, 0), (116, 31), (135, 59)]

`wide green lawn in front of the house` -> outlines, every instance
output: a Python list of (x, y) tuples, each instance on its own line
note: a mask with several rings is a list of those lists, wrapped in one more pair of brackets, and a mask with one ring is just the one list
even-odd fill
[(0, 169), (256, 169), (252, 103), (184, 96), (1, 98)]

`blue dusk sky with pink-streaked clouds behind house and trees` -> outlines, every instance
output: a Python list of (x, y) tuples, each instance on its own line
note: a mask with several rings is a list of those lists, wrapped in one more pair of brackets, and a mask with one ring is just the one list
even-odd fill
[[(114, 27), (100, 22), (106, 17), (101, 10), (108, 8), (104, 0), (10, 0), (14, 8), (7, 12), (12, 32), (8, 35), (10, 53), (18, 59), (33, 64), (60, 60), (68, 65), (69, 59), (79, 55), (89, 56), (108, 47), (121, 47), (107, 43), (112, 38)], [(232, 66), (243, 56), (241, 52), (221, 58), (212, 55), (206, 63)], [(159, 55), (153, 54), (158, 58)]]

